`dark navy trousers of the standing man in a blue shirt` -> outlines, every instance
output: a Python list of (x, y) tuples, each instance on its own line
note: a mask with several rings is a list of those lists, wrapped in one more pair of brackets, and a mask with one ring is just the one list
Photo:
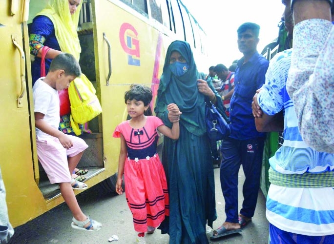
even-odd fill
[(227, 138), (222, 142), (220, 184), (225, 199), (226, 222), (238, 223), (238, 173), (241, 164), (245, 183), (240, 214), (248, 218), (254, 216), (260, 187), (263, 147), (262, 137), (248, 140)]

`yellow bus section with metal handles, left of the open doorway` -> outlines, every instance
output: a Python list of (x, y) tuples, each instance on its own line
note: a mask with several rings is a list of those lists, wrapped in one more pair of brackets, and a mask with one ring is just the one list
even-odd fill
[[(0, 4), (0, 167), (7, 192), (9, 219), (15, 227), (39, 215), (43, 200), (35, 182), (31, 130), (29, 47), (27, 35), (28, 0), (4, 0)], [(36, 160), (37, 161), (37, 160)], [(38, 182), (38, 170), (36, 180)]]

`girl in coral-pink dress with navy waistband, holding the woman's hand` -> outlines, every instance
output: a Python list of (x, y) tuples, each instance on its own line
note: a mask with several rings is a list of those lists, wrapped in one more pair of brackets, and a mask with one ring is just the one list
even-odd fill
[(149, 102), (150, 88), (132, 84), (125, 92), (125, 103), (130, 120), (120, 123), (113, 137), (121, 138), (116, 192), (121, 195), (122, 176), (126, 183), (126, 201), (132, 212), (137, 243), (144, 241), (145, 232), (152, 234), (169, 215), (167, 181), (163, 165), (156, 152), (158, 133), (172, 140), (179, 138), (179, 117), (182, 114), (174, 103), (167, 105), (168, 112), (177, 114), (170, 129), (152, 114)]

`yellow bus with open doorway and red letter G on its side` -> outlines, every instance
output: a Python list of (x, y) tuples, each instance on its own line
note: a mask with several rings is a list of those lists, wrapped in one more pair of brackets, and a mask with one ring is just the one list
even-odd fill
[[(0, 4), (0, 168), (14, 227), (63, 203), (36, 153), (29, 26), (45, 5), (46, 0)], [(89, 187), (99, 183), (114, 191), (120, 142), (112, 132), (126, 120), (125, 90), (131, 83), (143, 83), (156, 93), (167, 47), (174, 40), (188, 41), (199, 70), (207, 70), (206, 35), (181, 0), (84, 0), (78, 34), (82, 71), (103, 108), (89, 122), (93, 133), (81, 136), (89, 147), (78, 167), (89, 169)]]

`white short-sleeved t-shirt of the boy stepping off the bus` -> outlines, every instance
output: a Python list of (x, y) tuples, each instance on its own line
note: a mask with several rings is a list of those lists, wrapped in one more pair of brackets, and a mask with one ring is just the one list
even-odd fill
[[(58, 130), (60, 122), (58, 91), (45, 83), (43, 79), (44, 77), (38, 79), (33, 87), (34, 112), (44, 114), (44, 121)], [(36, 137), (38, 140), (43, 140), (52, 136), (36, 128)]]

